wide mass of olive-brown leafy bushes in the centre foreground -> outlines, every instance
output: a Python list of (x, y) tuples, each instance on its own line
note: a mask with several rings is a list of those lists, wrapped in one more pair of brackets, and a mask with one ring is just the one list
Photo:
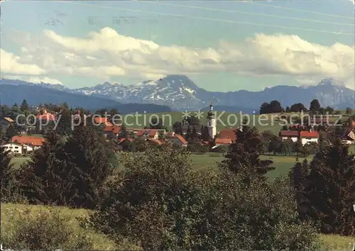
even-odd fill
[[(317, 250), (283, 180), (244, 184), (244, 172), (192, 172), (185, 150), (124, 155), (88, 224), (148, 250)], [(119, 227), (118, 227), (119, 226)]]

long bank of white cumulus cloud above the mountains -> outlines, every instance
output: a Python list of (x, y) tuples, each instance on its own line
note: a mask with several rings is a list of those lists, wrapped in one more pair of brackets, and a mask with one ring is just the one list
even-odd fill
[[(22, 71), (48, 72), (48, 76), (152, 79), (166, 74), (233, 72), (293, 75), (296, 79), (337, 77), (349, 87), (354, 83), (354, 46), (336, 43), (327, 47), (297, 35), (257, 34), (239, 43), (222, 41), (217, 48), (158, 45), (121, 35), (111, 28), (89, 33), (86, 38), (65, 37), (53, 30), (44, 30), (42, 37), (23, 34), (20, 37), (14, 40), (21, 45), (21, 55), (8, 55), (12, 67), (7, 65), (6, 69), (13, 74)], [(34, 46), (39, 41), (40, 46)]]

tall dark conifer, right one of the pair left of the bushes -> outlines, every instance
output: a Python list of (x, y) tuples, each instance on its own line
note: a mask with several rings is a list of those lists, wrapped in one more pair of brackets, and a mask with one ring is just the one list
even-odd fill
[(73, 130), (65, 145), (70, 168), (76, 178), (72, 186), (72, 197), (77, 207), (94, 208), (99, 199), (99, 189), (111, 173), (111, 151), (103, 141), (91, 126), (82, 123)]

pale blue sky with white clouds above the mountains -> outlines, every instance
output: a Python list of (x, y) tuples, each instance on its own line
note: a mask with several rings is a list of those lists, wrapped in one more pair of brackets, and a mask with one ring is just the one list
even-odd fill
[(208, 91), (354, 89), (354, 3), (1, 2), (1, 75), (69, 88), (184, 74)]

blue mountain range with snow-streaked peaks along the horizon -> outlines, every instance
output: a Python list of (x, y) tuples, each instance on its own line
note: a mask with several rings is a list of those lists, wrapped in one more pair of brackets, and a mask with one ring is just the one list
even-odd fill
[[(87, 102), (90, 102), (92, 106), (99, 105), (100, 102), (105, 106), (119, 106), (131, 103), (141, 104), (142, 106), (155, 104), (159, 111), (168, 107), (176, 111), (185, 109), (205, 110), (208, 108), (210, 101), (213, 101), (214, 109), (218, 111), (243, 111), (244, 113), (256, 111), (258, 113), (258, 109), (263, 102), (278, 100), (284, 107), (295, 103), (302, 103), (307, 107), (312, 99), (318, 99), (322, 106), (346, 108), (354, 106), (355, 98), (354, 90), (346, 88), (343, 82), (335, 78), (323, 79), (319, 84), (309, 87), (280, 85), (266, 88), (263, 91), (241, 90), (229, 92), (207, 91), (198, 87), (185, 75), (168, 75), (162, 79), (147, 80), (131, 85), (105, 82), (95, 87), (80, 89), (68, 89), (61, 84), (34, 84), (10, 79), (2, 79), (1, 84), (3, 85), (1, 87), (3, 94), (6, 91), (4, 86), (13, 85), (19, 87), (21, 85), (17, 92), (26, 96), (27, 91), (23, 89), (23, 85), (25, 85), (28, 88), (41, 87), (57, 91), (56, 95), (61, 95), (61, 102), (67, 101), (66, 99), (74, 99), (74, 96), (70, 95), (80, 95), (80, 98), (75, 96), (75, 99), (84, 101), (84, 96), (87, 96)], [(42, 99), (44, 99), (45, 94), (32, 95), (36, 97), (36, 100), (44, 103)], [(65, 98), (66, 96), (67, 98)], [(27, 97), (26, 99), (29, 98)], [(13, 100), (11, 101), (13, 102)], [(79, 103), (76, 102), (75, 104)]]

